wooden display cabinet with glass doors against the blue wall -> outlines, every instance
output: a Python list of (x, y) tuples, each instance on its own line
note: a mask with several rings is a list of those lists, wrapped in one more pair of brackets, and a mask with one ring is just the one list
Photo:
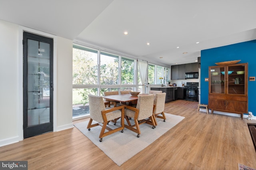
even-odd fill
[(248, 113), (248, 63), (209, 67), (208, 107), (243, 119)]

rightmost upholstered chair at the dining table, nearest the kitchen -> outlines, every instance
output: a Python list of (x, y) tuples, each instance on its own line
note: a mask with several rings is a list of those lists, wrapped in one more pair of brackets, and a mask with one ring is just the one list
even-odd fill
[[(166, 117), (164, 115), (164, 104), (165, 104), (165, 97), (166, 93), (156, 93), (154, 97), (154, 112), (153, 115), (155, 118), (161, 118), (164, 119), (164, 122), (166, 120)], [(155, 120), (155, 124), (157, 125), (157, 121)]]

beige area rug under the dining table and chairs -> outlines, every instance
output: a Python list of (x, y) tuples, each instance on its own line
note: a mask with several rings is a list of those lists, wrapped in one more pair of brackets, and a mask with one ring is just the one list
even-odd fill
[[(77, 123), (74, 126), (98, 146), (113, 162), (121, 166), (184, 118), (166, 113), (166, 122), (163, 119), (157, 119), (158, 126), (154, 129), (151, 125), (145, 123), (140, 125), (141, 134), (139, 138), (137, 138), (135, 132), (124, 128), (123, 133), (110, 134), (104, 137), (102, 142), (99, 141), (100, 126), (92, 127), (90, 131), (86, 128), (88, 121)], [(120, 122), (116, 123), (116, 126), (120, 126)], [(116, 126), (112, 122), (109, 123), (110, 128)]]

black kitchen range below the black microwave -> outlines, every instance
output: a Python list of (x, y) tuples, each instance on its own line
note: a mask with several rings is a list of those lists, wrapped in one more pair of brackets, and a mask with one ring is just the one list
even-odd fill
[(184, 86), (184, 100), (198, 101), (198, 82), (187, 82)]

